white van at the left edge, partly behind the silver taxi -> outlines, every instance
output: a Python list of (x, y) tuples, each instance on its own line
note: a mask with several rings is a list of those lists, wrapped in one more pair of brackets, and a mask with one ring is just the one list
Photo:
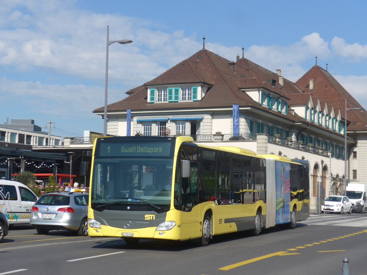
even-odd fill
[(0, 179), (0, 212), (4, 213), (9, 225), (29, 224), (36, 194), (23, 183)]

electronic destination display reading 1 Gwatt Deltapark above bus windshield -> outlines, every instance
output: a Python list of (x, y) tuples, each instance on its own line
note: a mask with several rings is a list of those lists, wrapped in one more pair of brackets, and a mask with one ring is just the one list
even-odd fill
[(99, 155), (110, 157), (168, 157), (170, 142), (101, 142)]

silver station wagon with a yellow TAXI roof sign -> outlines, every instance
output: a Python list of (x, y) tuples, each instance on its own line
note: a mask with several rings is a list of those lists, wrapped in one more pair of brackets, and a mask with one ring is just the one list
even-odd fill
[(38, 234), (69, 230), (88, 236), (88, 193), (53, 192), (41, 195), (32, 207), (30, 225)]

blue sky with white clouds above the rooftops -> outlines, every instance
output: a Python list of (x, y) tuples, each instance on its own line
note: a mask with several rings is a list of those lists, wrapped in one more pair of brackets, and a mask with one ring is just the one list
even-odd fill
[[(244, 55), (296, 81), (326, 68), (367, 108), (367, 1), (2, 0), (0, 123), (33, 119), (51, 134), (103, 132), (108, 103), (199, 51)], [(47, 131), (46, 128), (44, 128)]]

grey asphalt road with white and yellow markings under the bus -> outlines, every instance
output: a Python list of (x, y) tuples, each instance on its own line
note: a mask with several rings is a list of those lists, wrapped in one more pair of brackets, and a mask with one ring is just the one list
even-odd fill
[(367, 274), (367, 213), (323, 214), (297, 223), (295, 230), (264, 230), (215, 236), (211, 245), (195, 241), (76, 236), (67, 231), (38, 235), (14, 226), (0, 243), (0, 275), (16, 274)]

